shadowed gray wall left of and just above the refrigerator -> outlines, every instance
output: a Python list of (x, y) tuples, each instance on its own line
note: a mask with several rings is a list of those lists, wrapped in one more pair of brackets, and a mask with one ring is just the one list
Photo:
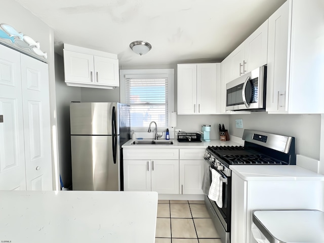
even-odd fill
[(72, 185), (70, 103), (81, 101), (81, 88), (65, 85), (63, 57), (58, 54), (55, 55), (55, 77), (60, 174), (64, 187), (68, 188)]

